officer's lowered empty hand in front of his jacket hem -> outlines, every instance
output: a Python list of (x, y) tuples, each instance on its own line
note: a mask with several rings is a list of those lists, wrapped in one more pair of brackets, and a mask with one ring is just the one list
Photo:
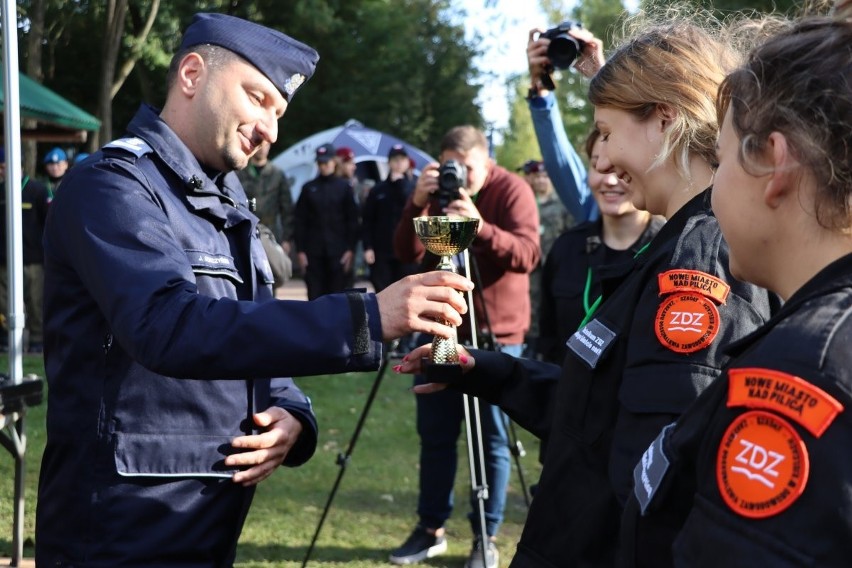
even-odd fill
[(234, 483), (244, 487), (257, 485), (272, 475), (302, 433), (302, 423), (277, 406), (255, 414), (254, 422), (265, 432), (231, 440), (234, 448), (251, 451), (225, 458), (225, 465), (229, 467), (251, 466), (234, 474)]

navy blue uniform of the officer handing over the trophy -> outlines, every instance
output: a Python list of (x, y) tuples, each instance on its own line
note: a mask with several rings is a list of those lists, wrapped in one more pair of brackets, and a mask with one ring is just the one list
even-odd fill
[[(277, 405), (316, 445), (281, 376), (376, 368), (374, 296), (273, 301), (257, 218), (151, 107), (66, 176), (45, 233), (44, 566), (230, 566), (253, 495), (223, 465)], [(209, 177), (214, 175), (214, 178)]]

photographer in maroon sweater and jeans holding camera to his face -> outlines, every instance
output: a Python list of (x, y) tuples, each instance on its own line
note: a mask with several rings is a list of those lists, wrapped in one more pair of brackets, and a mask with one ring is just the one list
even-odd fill
[[(493, 337), (495, 348), (519, 356), (530, 322), (529, 273), (538, 264), (539, 222), (535, 197), (518, 175), (495, 164), (488, 155), (485, 135), (473, 126), (452, 128), (441, 141), (441, 164), (423, 169), (394, 234), (394, 250), (402, 262), (424, 260), (425, 249), (411, 219), (421, 215), (462, 215), (479, 219), (479, 232), (470, 246), (475, 321), (479, 333)], [(432, 258), (432, 265), (435, 261)], [(428, 264), (427, 259), (424, 264)], [(459, 341), (469, 339), (470, 325), (459, 326)], [(415, 383), (426, 382), (415, 377)], [(482, 546), (488, 568), (497, 566), (493, 538), (503, 520), (509, 480), (509, 446), (504, 416), (499, 408), (481, 405), (485, 441), (486, 531), (483, 543), (474, 538), (467, 566), (482, 566)], [(420, 436), (419, 524), (408, 540), (391, 554), (391, 562), (411, 564), (446, 550), (444, 522), (453, 506), (456, 444), (464, 407), (461, 393), (444, 391), (417, 396), (417, 433)], [(476, 507), (473, 508), (476, 511)], [(477, 534), (479, 519), (471, 513)]]

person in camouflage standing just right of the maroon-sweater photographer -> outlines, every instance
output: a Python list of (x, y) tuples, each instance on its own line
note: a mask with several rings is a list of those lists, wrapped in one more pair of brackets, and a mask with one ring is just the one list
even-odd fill
[(535, 193), (538, 203), (538, 216), (540, 222), (539, 237), (541, 239), (541, 260), (538, 266), (530, 273), (530, 301), (532, 314), (530, 317), (530, 329), (526, 337), (525, 355), (532, 357), (536, 352), (535, 344), (539, 335), (538, 319), (541, 311), (541, 273), (544, 261), (553, 242), (563, 231), (575, 224), (571, 213), (562, 204), (553, 183), (544, 169), (544, 162), (539, 160), (528, 160), (518, 168), (523, 171), (524, 178)]

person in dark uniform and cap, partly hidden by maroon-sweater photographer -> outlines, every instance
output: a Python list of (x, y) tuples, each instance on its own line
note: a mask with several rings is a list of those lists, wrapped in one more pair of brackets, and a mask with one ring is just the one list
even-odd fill
[(388, 177), (370, 191), (362, 210), (364, 260), (377, 292), (418, 269), (415, 263), (400, 261), (393, 251), (394, 230), (417, 182), (409, 166), (405, 147), (392, 146), (388, 152)]

